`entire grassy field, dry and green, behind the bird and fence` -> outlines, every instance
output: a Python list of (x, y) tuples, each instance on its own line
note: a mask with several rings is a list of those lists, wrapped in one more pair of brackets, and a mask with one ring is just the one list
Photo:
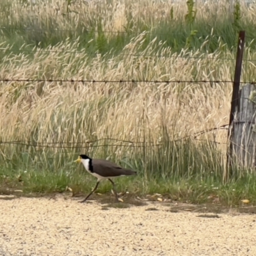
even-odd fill
[(242, 81), (255, 80), (255, 5), (188, 3), (1, 3), (2, 193), (88, 192), (94, 180), (72, 163), (86, 153), (138, 170), (120, 190), (253, 201), (250, 170), (222, 182), (227, 130), (193, 134), (228, 124), (239, 26)]

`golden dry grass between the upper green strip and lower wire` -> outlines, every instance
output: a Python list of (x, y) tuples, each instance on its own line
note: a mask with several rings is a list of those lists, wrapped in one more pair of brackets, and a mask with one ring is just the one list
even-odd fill
[[(6, 55), (2, 79), (232, 81), (234, 54), (200, 54), (172, 49), (152, 40), (140, 51), (143, 34), (134, 37), (120, 56), (88, 58), (77, 42), (26, 55)], [(221, 48), (221, 46), (220, 46)], [(8, 48), (10, 49), (10, 48)], [(61, 51), (65, 49), (65, 53)], [(157, 51), (159, 56), (148, 57)], [(76, 52), (76, 53), (73, 53)], [(140, 52), (141, 56), (136, 56)], [(255, 56), (250, 56), (255, 58)], [(247, 61), (248, 62), (248, 61)], [(243, 80), (252, 78), (246, 63)], [(1, 140), (85, 142), (100, 138), (129, 141), (172, 140), (228, 124), (232, 83), (2, 83)], [(6, 129), (8, 127), (8, 129)], [(208, 134), (227, 141), (227, 132)], [(122, 150), (121, 150), (122, 151)], [(125, 149), (127, 152), (127, 150)]]

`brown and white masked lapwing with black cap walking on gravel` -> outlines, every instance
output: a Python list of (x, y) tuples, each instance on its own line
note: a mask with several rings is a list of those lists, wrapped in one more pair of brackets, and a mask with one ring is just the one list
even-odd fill
[(106, 179), (111, 182), (113, 186), (113, 191), (115, 193), (116, 201), (118, 202), (115, 183), (111, 179), (120, 176), (136, 175), (136, 172), (122, 168), (115, 163), (111, 163), (104, 159), (92, 159), (86, 155), (80, 155), (75, 162), (83, 163), (86, 171), (98, 179), (93, 191), (88, 196), (86, 196), (86, 198), (81, 201), (81, 203), (85, 202), (89, 198), (89, 196), (92, 195), (92, 193), (98, 188), (101, 180)]

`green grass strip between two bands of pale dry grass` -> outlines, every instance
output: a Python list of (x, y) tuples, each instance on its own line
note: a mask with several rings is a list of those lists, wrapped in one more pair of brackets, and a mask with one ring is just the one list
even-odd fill
[[(0, 24), (1, 26), (1, 24)], [(2, 25), (4, 27), (4, 24)], [(252, 50), (256, 49), (256, 41), (254, 31), (256, 24), (250, 22), (244, 22), (241, 26), (246, 31), (246, 42), (251, 44)], [(97, 54), (107, 54), (107, 58), (111, 56), (117, 56), (122, 52), (125, 45), (131, 42), (134, 36), (145, 32), (145, 41), (141, 45), (141, 51), (147, 48), (149, 42), (155, 37), (156, 44), (159, 42), (165, 42), (166, 47), (171, 47), (172, 52), (180, 52), (184, 48), (200, 49), (202, 52), (212, 53), (219, 48), (219, 45), (225, 45), (229, 51), (236, 51), (238, 31), (233, 28), (230, 20), (221, 20), (215, 24), (211, 22), (205, 26), (204, 20), (199, 20), (193, 26), (185, 25), (180, 20), (175, 22), (175, 25), (170, 26), (168, 22), (161, 22), (157, 24), (157, 28), (148, 28), (147, 30), (138, 29), (136, 33), (108, 33), (108, 31), (95, 31), (95, 28), (90, 28), (90, 31), (85, 31), (83, 28), (78, 28), (78, 31), (55, 31), (58, 28), (51, 28), (50, 31), (36, 31), (34, 29), (24, 28), (6, 28), (0, 30), (1, 40), (0, 44), (12, 45), (12, 51), (16, 54), (22, 52), (20, 47), (22, 45), (29, 45), (26, 47), (24, 54), (28, 54), (29, 51), (33, 51), (34, 47), (40, 47), (46, 49), (49, 45), (58, 45), (60, 42), (70, 40), (73, 42), (77, 40), (79, 35), (79, 47), (77, 51), (85, 51), (91, 58)], [(207, 41), (207, 43), (205, 43)], [(204, 45), (204, 47), (202, 47)], [(111, 52), (111, 54), (109, 53)], [(139, 54), (139, 53), (138, 53)], [(157, 52), (150, 52), (154, 55)]]

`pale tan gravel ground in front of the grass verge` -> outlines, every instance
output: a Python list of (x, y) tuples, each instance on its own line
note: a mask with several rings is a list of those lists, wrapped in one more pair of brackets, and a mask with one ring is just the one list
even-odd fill
[(149, 201), (80, 204), (81, 198), (63, 196), (0, 199), (1, 256), (256, 255), (256, 215), (237, 210), (216, 214)]

